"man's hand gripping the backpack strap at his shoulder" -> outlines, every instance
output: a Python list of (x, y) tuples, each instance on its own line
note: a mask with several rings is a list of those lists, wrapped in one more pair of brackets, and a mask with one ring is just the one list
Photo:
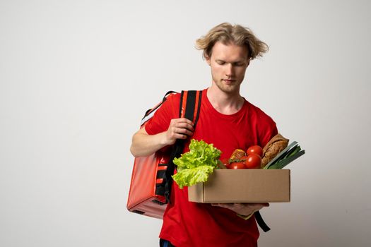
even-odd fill
[(172, 119), (165, 133), (165, 143), (172, 145), (177, 139), (187, 139), (193, 135), (193, 123), (189, 119)]

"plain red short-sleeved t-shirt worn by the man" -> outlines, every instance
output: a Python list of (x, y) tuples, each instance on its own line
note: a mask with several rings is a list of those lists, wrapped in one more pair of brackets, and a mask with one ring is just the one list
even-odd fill
[[(233, 150), (251, 145), (264, 147), (278, 133), (276, 123), (258, 107), (245, 100), (239, 112), (220, 114), (202, 93), (201, 112), (194, 135), (196, 140), (213, 143), (228, 158)], [(146, 124), (153, 135), (166, 131), (170, 120), (179, 117), (180, 94), (172, 95)], [(189, 142), (184, 152), (187, 152)], [(160, 238), (177, 247), (257, 246), (259, 230), (254, 217), (241, 219), (235, 212), (208, 203), (188, 201), (188, 188), (172, 183), (172, 204), (167, 205)]]

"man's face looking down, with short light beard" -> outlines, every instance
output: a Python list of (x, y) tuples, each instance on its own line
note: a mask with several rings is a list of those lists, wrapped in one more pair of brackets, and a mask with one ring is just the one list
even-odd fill
[(240, 92), (240, 85), (249, 65), (247, 47), (216, 42), (211, 57), (206, 61), (211, 66), (213, 84), (228, 94)]

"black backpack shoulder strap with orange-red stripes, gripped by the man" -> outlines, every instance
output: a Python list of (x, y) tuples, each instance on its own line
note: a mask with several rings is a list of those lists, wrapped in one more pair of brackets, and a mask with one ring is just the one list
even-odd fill
[[(185, 117), (194, 123), (194, 128), (199, 119), (201, 107), (202, 91), (182, 91), (179, 104), (179, 117)], [(177, 139), (172, 147), (169, 164), (165, 172), (165, 198), (166, 202), (170, 203), (170, 193), (172, 185), (172, 175), (174, 174), (175, 164), (172, 162), (174, 158), (180, 157), (184, 149), (185, 140)]]

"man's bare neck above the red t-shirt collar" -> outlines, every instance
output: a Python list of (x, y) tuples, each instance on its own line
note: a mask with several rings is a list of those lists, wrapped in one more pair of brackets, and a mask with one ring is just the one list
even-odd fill
[(207, 90), (208, 101), (221, 114), (230, 115), (240, 111), (245, 100), (240, 92), (226, 93), (216, 85), (211, 85)]

